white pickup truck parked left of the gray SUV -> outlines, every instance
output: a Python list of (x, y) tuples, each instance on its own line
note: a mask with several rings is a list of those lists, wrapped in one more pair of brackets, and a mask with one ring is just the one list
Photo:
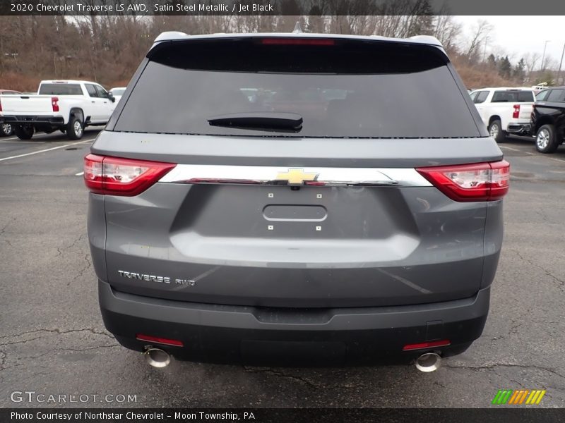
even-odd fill
[(71, 140), (80, 140), (86, 126), (109, 121), (114, 102), (95, 82), (42, 81), (37, 94), (0, 95), (0, 124), (12, 125), (20, 140), (30, 140), (37, 130), (61, 130)]

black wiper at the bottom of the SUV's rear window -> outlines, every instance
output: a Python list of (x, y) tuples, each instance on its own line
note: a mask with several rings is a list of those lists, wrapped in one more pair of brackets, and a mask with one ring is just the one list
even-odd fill
[(212, 126), (227, 128), (275, 130), (297, 133), (302, 130), (302, 116), (295, 113), (276, 111), (242, 112), (212, 116), (208, 118)]

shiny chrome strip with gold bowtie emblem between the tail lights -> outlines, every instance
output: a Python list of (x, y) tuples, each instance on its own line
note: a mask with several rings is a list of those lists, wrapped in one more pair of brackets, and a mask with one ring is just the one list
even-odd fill
[[(327, 168), (178, 164), (162, 183), (430, 187), (414, 168)], [(306, 182), (306, 183), (305, 183)]]

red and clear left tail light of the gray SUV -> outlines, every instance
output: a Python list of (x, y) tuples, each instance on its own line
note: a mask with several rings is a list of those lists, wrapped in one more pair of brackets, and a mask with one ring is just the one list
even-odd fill
[(147, 190), (174, 166), (177, 165), (88, 154), (84, 158), (84, 182), (95, 194), (133, 197)]

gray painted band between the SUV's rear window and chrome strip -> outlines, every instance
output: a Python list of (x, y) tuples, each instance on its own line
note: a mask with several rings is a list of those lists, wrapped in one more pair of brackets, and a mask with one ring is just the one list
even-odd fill
[[(347, 148), (344, 148), (344, 143)], [(213, 137), (118, 133), (98, 135), (94, 154), (177, 164), (235, 166), (417, 168), (498, 161), (489, 137), (437, 139), (340, 139)]]

